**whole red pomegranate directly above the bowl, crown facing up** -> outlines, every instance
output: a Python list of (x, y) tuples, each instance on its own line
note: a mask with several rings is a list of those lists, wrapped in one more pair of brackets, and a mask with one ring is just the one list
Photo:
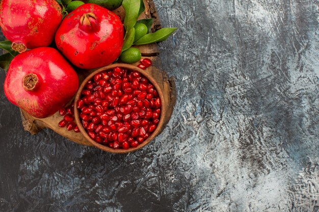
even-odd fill
[(95, 4), (84, 4), (67, 15), (55, 41), (70, 62), (81, 69), (113, 63), (123, 46), (123, 24), (113, 12)]

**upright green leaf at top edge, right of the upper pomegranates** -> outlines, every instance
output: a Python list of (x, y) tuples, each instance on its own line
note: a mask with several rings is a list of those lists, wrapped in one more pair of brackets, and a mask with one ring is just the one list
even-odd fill
[(139, 17), (141, 2), (137, 0), (123, 0), (122, 6), (125, 10), (124, 27), (129, 32), (134, 27)]

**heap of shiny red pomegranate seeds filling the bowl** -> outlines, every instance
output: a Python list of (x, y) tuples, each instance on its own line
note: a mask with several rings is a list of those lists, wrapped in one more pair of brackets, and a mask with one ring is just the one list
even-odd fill
[(77, 101), (90, 138), (111, 148), (137, 147), (156, 129), (161, 99), (140, 72), (119, 67), (90, 80)]

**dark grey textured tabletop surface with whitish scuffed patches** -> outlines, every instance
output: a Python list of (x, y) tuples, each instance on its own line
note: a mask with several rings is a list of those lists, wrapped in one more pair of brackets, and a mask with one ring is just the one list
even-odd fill
[(318, 1), (154, 2), (179, 28), (165, 131), (128, 155), (31, 136), (1, 86), (0, 211), (318, 211)]

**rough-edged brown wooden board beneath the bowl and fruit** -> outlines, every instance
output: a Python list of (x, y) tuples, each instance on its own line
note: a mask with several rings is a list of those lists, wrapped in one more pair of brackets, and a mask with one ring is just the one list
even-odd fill
[[(153, 18), (154, 23), (152, 25), (151, 31), (155, 32), (157, 29), (161, 28), (161, 22), (159, 21), (155, 6), (153, 1), (151, 0), (144, 0), (145, 4), (145, 12), (141, 14), (139, 19), (144, 18)], [(121, 20), (124, 20), (125, 12), (122, 7), (116, 9), (113, 11), (119, 17)], [(150, 45), (142, 45), (142, 46), (135, 46), (136, 48), (139, 48), (142, 57), (143, 58), (149, 58), (152, 60), (152, 66), (147, 68), (145, 72), (147, 72), (149, 75), (151, 75), (158, 85), (161, 87), (163, 94), (164, 94), (164, 105), (166, 107), (166, 117), (165, 122), (163, 125), (163, 128), (161, 131), (165, 128), (167, 123), (170, 120), (170, 117), (173, 113), (173, 109), (176, 102), (176, 88), (175, 88), (175, 82), (173, 78), (169, 78), (167, 76), (167, 73), (165, 71), (161, 70), (161, 61), (158, 58), (158, 49), (157, 44), (150, 44)], [(138, 63), (133, 65), (138, 65)], [(81, 84), (82, 81), (86, 76), (88, 76), (90, 73), (92, 73), (94, 70), (76, 70), (79, 77), (79, 83)], [(26, 113), (23, 110), (21, 111), (21, 118), (22, 118), (22, 125), (24, 127), (24, 130), (29, 131), (32, 135), (38, 133), (43, 128), (49, 128), (56, 133), (68, 138), (71, 141), (74, 141), (79, 144), (88, 145), (91, 146), (92, 144), (87, 141), (87, 139), (81, 134), (81, 133), (75, 133), (74, 131), (67, 131), (66, 128), (60, 128), (58, 126), (58, 123), (63, 119), (63, 116), (59, 114), (59, 112), (55, 113), (54, 115), (47, 117), (47, 118), (35, 118), (28, 113)]]

